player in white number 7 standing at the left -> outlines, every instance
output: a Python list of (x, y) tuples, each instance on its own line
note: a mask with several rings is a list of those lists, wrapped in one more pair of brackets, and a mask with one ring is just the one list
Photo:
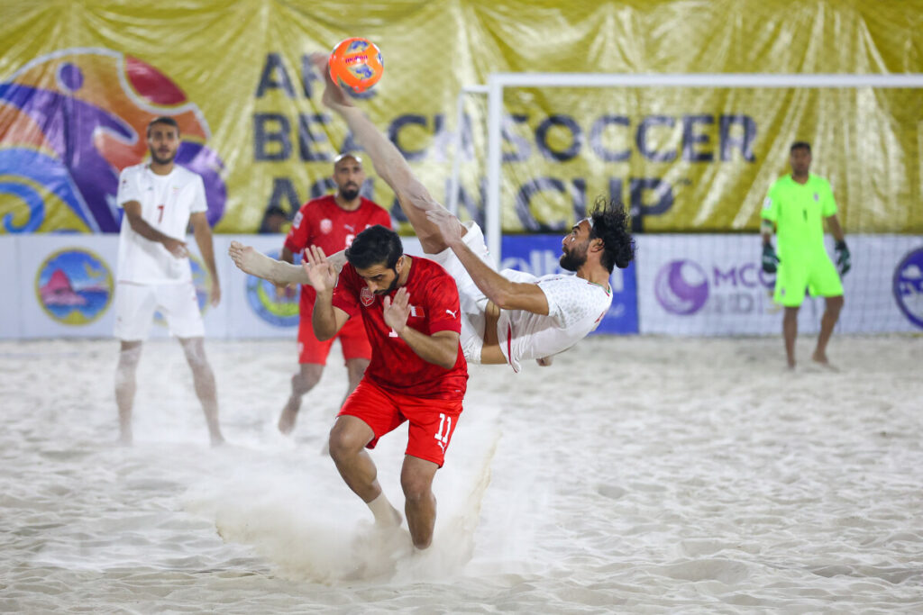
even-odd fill
[(205, 411), (211, 444), (221, 444), (215, 376), (205, 356), (205, 327), (189, 266), (186, 230), (193, 233), (211, 274), (210, 302), (221, 301), (202, 178), (174, 164), (179, 126), (171, 117), (148, 124), (150, 162), (127, 167), (119, 176), (116, 203), (125, 209), (119, 231), (115, 288), (115, 337), (122, 341), (115, 373), (115, 401), (123, 444), (131, 444), (131, 411), (141, 344), (159, 309), (179, 338), (192, 368), (196, 395)]

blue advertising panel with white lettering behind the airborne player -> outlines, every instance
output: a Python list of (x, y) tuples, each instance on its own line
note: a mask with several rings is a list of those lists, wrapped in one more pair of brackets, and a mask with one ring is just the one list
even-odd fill
[[(501, 246), (500, 269), (526, 271), (533, 276), (569, 273), (558, 265), (561, 255), (560, 235), (506, 235)], [(609, 278), (612, 305), (595, 333), (638, 333), (638, 295), (635, 264), (612, 272)]]

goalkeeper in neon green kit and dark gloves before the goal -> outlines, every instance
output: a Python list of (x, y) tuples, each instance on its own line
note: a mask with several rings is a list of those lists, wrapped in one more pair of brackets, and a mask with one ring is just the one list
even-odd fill
[[(805, 299), (805, 290), (824, 297), (826, 307), (821, 316), (821, 332), (812, 359), (828, 364), (827, 342), (843, 309), (843, 283), (851, 266), (849, 249), (836, 217), (836, 201), (830, 183), (810, 170), (810, 145), (796, 141), (789, 150), (792, 172), (779, 178), (769, 189), (761, 212), (762, 268), (775, 277), (773, 301), (785, 307), (782, 332), (788, 367), (795, 367), (795, 338), (798, 333), (798, 308)], [(836, 265), (823, 245), (823, 222), (836, 240)], [(779, 247), (773, 250), (773, 231)]]

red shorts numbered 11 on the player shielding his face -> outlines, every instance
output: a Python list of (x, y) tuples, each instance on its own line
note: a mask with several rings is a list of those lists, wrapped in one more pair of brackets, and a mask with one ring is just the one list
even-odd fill
[(361, 419), (372, 428), (375, 437), (366, 448), (375, 448), (378, 438), (393, 432), (403, 421), (410, 421), (405, 453), (442, 467), (460, 414), (461, 399), (406, 396), (363, 378), (337, 416)]

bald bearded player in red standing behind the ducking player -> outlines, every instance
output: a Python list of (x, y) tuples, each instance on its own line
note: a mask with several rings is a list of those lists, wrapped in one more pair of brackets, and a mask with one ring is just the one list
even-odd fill
[[(365, 180), (366, 172), (362, 168), (361, 158), (355, 154), (338, 156), (333, 161), (333, 182), (337, 184), (337, 194), (312, 199), (298, 210), (292, 221), (292, 229), (285, 238), (282, 260), (294, 263), (294, 254), (301, 254), (310, 245), (319, 246), (326, 254), (334, 254), (348, 248), (356, 234), (370, 226), (380, 224), (390, 228), (389, 213), (359, 195)], [(333, 345), (333, 339), (320, 341), (315, 337), (311, 328), (313, 310), (314, 289), (303, 285), (298, 306), (299, 371), (292, 376), (292, 395), (279, 417), (279, 431), (282, 433), (290, 433), (294, 429), (301, 398), (320, 381)], [(346, 390), (346, 396), (349, 396), (366, 371), (372, 349), (358, 319), (343, 325), (337, 337), (340, 338), (343, 361), (349, 373)]]

